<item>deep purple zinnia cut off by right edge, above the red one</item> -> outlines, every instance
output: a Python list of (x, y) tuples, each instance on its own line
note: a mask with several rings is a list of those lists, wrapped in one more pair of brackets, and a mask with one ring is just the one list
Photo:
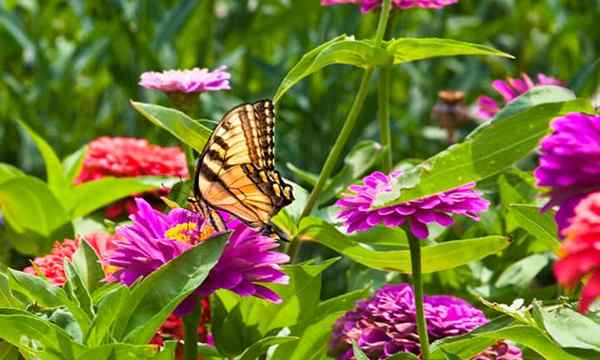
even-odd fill
[(571, 113), (552, 121), (554, 132), (541, 143), (538, 186), (549, 188), (544, 210), (558, 205), (559, 233), (587, 194), (600, 189), (600, 115)]

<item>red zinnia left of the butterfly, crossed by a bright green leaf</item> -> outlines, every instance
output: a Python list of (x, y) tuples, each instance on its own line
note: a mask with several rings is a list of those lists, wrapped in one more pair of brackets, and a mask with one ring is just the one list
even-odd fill
[[(187, 179), (185, 154), (178, 147), (161, 147), (145, 139), (103, 136), (88, 145), (83, 167), (76, 184), (103, 177), (173, 176)], [(160, 196), (169, 194), (168, 188), (144, 194), (146, 200), (161, 205)], [(133, 194), (132, 194), (133, 195)], [(128, 198), (110, 205), (106, 217), (116, 219), (135, 210), (133, 199)]]

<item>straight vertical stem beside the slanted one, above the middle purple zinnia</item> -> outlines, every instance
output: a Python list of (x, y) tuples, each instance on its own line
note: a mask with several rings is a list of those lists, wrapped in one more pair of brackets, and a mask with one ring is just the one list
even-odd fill
[(381, 133), (381, 145), (385, 147), (383, 156), (383, 171), (392, 170), (394, 159), (392, 157), (392, 131), (390, 128), (390, 82), (391, 66), (385, 66), (379, 74), (379, 87), (377, 91), (379, 106), (379, 132)]

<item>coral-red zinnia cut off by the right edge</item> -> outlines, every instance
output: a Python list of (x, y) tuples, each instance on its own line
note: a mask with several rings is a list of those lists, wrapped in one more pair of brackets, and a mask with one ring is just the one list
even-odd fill
[(561, 259), (554, 264), (558, 282), (573, 288), (589, 275), (579, 301), (579, 311), (587, 312), (600, 296), (600, 192), (583, 199), (575, 209), (571, 225), (563, 232)]

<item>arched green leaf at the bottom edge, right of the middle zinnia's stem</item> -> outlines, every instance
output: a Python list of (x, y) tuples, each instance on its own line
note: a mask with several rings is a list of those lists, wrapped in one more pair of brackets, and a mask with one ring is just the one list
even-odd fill
[(540, 330), (518, 324), (507, 317), (500, 317), (467, 335), (434, 342), (431, 347), (431, 359), (445, 360), (445, 353), (457, 355), (460, 359), (470, 359), (496, 341), (505, 339), (529, 347), (546, 360), (579, 359), (565, 352)]

